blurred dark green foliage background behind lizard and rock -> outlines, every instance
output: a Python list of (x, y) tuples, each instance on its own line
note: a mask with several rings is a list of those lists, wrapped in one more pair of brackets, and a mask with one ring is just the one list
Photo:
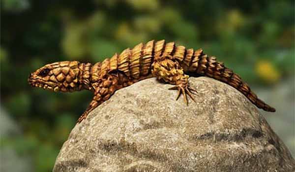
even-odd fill
[(56, 61), (95, 63), (151, 39), (205, 53), (277, 108), (262, 112), (295, 155), (293, 0), (1, 0), (0, 171), (49, 172), (90, 92), (31, 88)]

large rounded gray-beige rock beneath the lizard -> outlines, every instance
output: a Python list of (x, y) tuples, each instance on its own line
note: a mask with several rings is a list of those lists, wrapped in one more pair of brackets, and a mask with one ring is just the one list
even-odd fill
[(294, 171), (295, 160), (258, 109), (233, 87), (189, 79), (186, 106), (150, 78), (118, 90), (76, 125), (54, 172)]

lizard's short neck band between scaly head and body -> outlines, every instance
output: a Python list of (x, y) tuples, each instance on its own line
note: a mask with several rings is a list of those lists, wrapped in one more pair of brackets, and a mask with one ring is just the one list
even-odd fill
[(79, 80), (79, 90), (82, 90), (82, 89), (86, 89), (86, 90), (91, 90), (91, 67), (92, 67), (92, 64), (90, 63), (81, 63), (79, 65), (79, 76), (78, 76), (78, 80)]

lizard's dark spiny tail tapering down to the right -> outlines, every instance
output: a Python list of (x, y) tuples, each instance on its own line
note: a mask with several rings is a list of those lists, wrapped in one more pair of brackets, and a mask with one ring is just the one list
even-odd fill
[(215, 57), (208, 57), (203, 54), (202, 49), (197, 50), (194, 56), (188, 68), (190, 72), (196, 72), (225, 82), (245, 95), (258, 108), (275, 112), (275, 108), (257, 98), (257, 95), (251, 91), (247, 83), (241, 80), (239, 75), (234, 73), (232, 69), (226, 68), (222, 62), (217, 62)]

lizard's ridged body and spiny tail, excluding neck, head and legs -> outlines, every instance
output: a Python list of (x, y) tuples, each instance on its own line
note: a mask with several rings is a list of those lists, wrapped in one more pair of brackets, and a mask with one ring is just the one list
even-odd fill
[(266, 111), (275, 111), (273, 107), (258, 99), (239, 75), (226, 68), (222, 62), (217, 62), (215, 57), (207, 56), (202, 49), (186, 49), (182, 45), (176, 46), (175, 42), (166, 43), (165, 40), (140, 43), (133, 49), (127, 48), (119, 55), (116, 53), (112, 58), (95, 64), (92, 67), (92, 79), (99, 78), (101, 72), (121, 71), (131, 81), (137, 82), (152, 77), (152, 63), (165, 56), (176, 59), (184, 72), (201, 74), (225, 82), (245, 95), (257, 107)]

